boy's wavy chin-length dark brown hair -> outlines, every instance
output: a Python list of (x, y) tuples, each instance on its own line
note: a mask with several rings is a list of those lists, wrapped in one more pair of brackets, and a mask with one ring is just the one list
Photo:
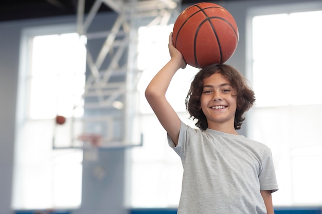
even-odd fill
[(236, 91), (237, 109), (235, 113), (234, 127), (240, 129), (245, 120), (243, 114), (253, 106), (255, 102), (254, 91), (248, 86), (248, 81), (235, 68), (225, 64), (213, 64), (203, 68), (195, 76), (186, 97), (186, 109), (190, 113), (190, 119), (198, 120), (195, 125), (201, 130), (208, 128), (207, 118), (200, 107), (200, 97), (203, 92), (203, 79), (214, 73), (220, 73), (226, 77), (232, 88)]

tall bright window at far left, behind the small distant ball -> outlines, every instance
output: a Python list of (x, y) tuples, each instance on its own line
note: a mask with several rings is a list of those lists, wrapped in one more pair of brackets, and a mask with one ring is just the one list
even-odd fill
[(50, 34), (47, 28), (45, 33), (41, 29), (23, 33), (14, 209), (76, 208), (81, 204), (82, 150), (55, 150), (52, 142), (57, 114), (68, 123), (83, 113), (79, 103), (85, 86), (84, 42), (77, 33)]

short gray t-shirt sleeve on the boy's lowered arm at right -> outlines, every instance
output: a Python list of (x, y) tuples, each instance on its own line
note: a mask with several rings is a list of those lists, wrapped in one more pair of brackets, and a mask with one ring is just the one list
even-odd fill
[(269, 148), (263, 153), (259, 182), (260, 190), (271, 190), (272, 192), (278, 190), (272, 152)]

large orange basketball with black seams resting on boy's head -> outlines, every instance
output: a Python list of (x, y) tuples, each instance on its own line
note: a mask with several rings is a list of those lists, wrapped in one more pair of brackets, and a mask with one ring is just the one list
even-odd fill
[(238, 28), (225, 8), (198, 3), (187, 7), (177, 17), (172, 41), (188, 65), (204, 68), (229, 60), (237, 48)]

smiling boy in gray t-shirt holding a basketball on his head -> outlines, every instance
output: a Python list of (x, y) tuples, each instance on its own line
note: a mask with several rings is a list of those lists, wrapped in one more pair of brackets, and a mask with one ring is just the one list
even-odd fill
[(178, 213), (274, 213), (278, 189), (271, 150), (239, 135), (243, 113), (255, 102), (241, 74), (228, 65), (199, 71), (186, 98), (199, 129), (182, 123), (166, 100), (175, 72), (185, 68), (169, 36), (171, 60), (154, 76), (146, 98), (184, 167)]

